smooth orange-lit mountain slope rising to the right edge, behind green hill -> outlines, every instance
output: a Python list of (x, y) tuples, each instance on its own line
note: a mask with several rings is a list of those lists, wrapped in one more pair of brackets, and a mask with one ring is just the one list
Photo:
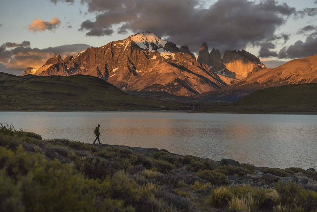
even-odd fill
[(259, 89), (302, 83), (317, 83), (317, 55), (294, 59), (276, 68), (260, 70), (227, 88), (196, 97), (234, 102)]

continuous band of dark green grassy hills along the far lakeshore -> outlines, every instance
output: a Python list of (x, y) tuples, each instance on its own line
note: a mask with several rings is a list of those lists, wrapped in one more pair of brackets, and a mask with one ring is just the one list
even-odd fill
[[(190, 109), (230, 113), (317, 113), (317, 83), (260, 89), (231, 104), (221, 101), (206, 103), (203, 98), (176, 99), (158, 92), (152, 96), (139, 95), (127, 94), (100, 78), (88, 75), (19, 77), (0, 72), (0, 110)], [(174, 102), (173, 98), (176, 99)]]

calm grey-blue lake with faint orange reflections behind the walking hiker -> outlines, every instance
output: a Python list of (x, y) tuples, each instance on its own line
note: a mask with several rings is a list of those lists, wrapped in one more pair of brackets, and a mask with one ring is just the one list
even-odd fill
[(0, 112), (0, 123), (43, 139), (166, 149), (220, 161), (317, 169), (317, 116), (185, 112)]

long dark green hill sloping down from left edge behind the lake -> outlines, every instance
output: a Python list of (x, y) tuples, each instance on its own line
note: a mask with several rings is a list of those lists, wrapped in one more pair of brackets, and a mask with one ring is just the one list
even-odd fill
[(169, 103), (126, 94), (94, 76), (15, 76), (0, 72), (0, 110), (158, 110)]

